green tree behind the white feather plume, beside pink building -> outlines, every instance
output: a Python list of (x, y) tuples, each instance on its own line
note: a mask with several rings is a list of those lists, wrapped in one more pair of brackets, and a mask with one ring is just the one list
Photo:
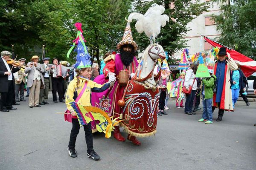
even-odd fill
[[(134, 3), (134, 11), (145, 14), (153, 3), (163, 5), (165, 7), (164, 14), (167, 14), (170, 18), (169, 23), (161, 28), (157, 42), (159, 42), (170, 55), (173, 55), (178, 50), (186, 47), (186, 40), (183, 39), (183, 36), (190, 30), (186, 27), (187, 23), (196, 16), (199, 16), (202, 12), (207, 11), (208, 6), (206, 3), (200, 3), (199, 0), (137, 0), (137, 2)], [(135, 29), (135, 27), (133, 29)], [(144, 34), (136, 32), (134, 37), (140, 49), (145, 49), (145, 47), (148, 46), (149, 40)], [(170, 58), (170, 60), (172, 59)]]

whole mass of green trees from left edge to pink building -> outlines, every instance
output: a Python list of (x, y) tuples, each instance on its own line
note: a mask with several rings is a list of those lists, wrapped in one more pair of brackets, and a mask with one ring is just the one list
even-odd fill
[[(47, 57), (67, 60), (67, 51), (76, 37), (74, 23), (81, 22), (89, 52), (99, 62), (100, 55), (116, 50), (126, 26), (125, 17), (133, 11), (144, 14), (152, 3), (165, 6), (165, 14), (170, 17), (157, 41), (172, 55), (185, 46), (182, 37), (189, 30), (186, 24), (207, 9), (205, 3), (190, 0), (1, 0), (0, 50), (11, 50), (11, 44), (15, 44), (18, 58), (29, 59), (35, 54), (41, 56), (41, 47), (45, 44)], [(175, 6), (172, 9), (171, 3)], [(132, 30), (140, 49), (145, 49), (148, 38), (138, 34), (135, 28)], [(68, 61), (73, 61), (75, 55), (71, 53)]]

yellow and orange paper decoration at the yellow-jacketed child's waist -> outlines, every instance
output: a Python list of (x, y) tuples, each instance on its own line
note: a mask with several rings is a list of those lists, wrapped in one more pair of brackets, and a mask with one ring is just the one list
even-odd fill
[(83, 106), (70, 99), (67, 100), (70, 102), (71, 107), (73, 107), (74, 112), (76, 113), (80, 127), (91, 121), (95, 121), (98, 132), (105, 133), (106, 138), (111, 137), (111, 131), (114, 129), (114, 126), (120, 122), (116, 121), (117, 118), (111, 121), (108, 114), (99, 107)]

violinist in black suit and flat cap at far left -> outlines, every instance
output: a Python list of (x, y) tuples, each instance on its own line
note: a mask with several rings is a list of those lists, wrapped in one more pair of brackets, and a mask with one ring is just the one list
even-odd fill
[(16, 110), (12, 107), (12, 101), (15, 95), (15, 82), (13, 73), (20, 70), (22, 64), (10, 59), (11, 52), (2, 51), (0, 58), (0, 111), (9, 112)]

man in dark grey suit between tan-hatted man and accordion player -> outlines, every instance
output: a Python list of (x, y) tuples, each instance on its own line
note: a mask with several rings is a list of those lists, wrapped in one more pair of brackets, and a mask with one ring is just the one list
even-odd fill
[(52, 68), (49, 67), (49, 59), (50, 58), (44, 58), (43, 61), (44, 63), (41, 65), (42, 68), (44, 69), (44, 89), (40, 89), (40, 98), (39, 98), (39, 104), (40, 105), (45, 105), (49, 104), (47, 102), (48, 100), (48, 94), (49, 94), (49, 89), (52, 89), (52, 78), (50, 75), (53, 74)]

